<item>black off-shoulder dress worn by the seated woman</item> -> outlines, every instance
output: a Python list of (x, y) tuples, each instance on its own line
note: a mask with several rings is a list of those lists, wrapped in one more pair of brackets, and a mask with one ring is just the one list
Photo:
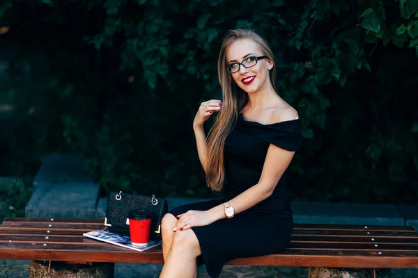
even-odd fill
[[(288, 151), (300, 147), (300, 120), (260, 124), (242, 115), (226, 138), (224, 147), (225, 197), (187, 204), (169, 211), (179, 215), (189, 210), (206, 211), (222, 204), (258, 183), (270, 144)], [(286, 193), (286, 172), (273, 194), (255, 206), (208, 226), (193, 227), (210, 277), (218, 277), (224, 263), (235, 258), (261, 256), (284, 250), (291, 240), (293, 218)]]

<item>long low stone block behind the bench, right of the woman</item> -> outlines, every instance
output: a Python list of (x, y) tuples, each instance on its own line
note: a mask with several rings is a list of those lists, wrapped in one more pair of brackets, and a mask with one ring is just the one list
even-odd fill
[(300, 224), (353, 224), (404, 226), (392, 204), (292, 202), (293, 222)]

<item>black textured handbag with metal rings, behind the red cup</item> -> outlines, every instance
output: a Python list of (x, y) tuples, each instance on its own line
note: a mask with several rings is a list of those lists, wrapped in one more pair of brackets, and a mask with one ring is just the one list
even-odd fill
[(167, 199), (155, 195), (144, 196), (122, 193), (109, 193), (104, 226), (117, 234), (129, 234), (127, 215), (130, 211), (146, 211), (151, 215), (150, 240), (161, 240), (161, 220), (167, 213)]

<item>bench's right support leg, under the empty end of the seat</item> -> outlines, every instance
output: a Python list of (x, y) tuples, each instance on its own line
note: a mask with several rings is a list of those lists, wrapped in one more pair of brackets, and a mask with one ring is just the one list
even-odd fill
[(308, 268), (308, 278), (391, 278), (390, 268)]

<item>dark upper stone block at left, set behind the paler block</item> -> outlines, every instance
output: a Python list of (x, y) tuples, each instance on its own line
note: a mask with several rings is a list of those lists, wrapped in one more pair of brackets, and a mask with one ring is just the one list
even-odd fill
[(94, 180), (82, 170), (82, 156), (72, 154), (49, 154), (45, 156), (36, 177), (33, 188), (41, 182), (84, 182), (94, 183)]

